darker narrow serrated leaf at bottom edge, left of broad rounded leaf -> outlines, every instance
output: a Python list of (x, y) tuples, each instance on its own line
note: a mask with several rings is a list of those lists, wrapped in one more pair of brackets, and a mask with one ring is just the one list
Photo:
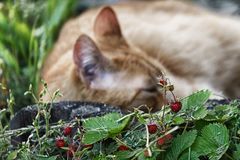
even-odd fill
[(185, 149), (190, 147), (197, 137), (197, 131), (192, 130), (178, 135), (172, 142), (171, 147), (167, 150), (166, 160), (177, 160)]

